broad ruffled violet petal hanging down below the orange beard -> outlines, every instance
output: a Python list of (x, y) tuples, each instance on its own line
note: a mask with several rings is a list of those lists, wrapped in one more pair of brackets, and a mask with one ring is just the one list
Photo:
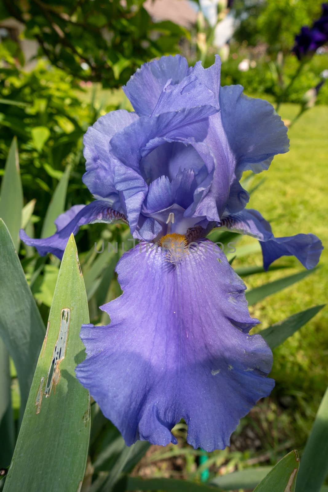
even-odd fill
[(217, 246), (198, 241), (178, 259), (150, 246), (120, 259), (123, 294), (102, 307), (110, 325), (83, 325), (87, 358), (76, 375), (127, 445), (176, 443), (171, 430), (184, 418), (194, 448), (223, 449), (272, 390), (272, 353), (249, 335), (258, 321)]

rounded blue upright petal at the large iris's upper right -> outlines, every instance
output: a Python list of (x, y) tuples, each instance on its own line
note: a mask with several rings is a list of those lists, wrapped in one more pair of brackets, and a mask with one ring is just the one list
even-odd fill
[[(274, 155), (289, 150), (287, 127), (273, 106), (263, 99), (242, 94), (241, 86), (220, 90), (220, 118), (229, 148), (228, 154), (240, 179), (243, 171), (268, 169)], [(218, 131), (222, 131), (218, 125)]]

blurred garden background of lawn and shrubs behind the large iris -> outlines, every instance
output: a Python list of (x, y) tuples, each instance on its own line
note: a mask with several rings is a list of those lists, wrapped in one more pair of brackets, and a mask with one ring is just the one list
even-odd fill
[[(245, 175), (250, 207), (271, 222), (276, 236), (312, 232), (325, 245), (327, 18), (327, 5), (320, 0), (2, 0), (0, 179), (17, 136), (26, 206), (22, 224), (29, 235), (52, 234), (57, 215), (91, 201), (81, 181), (83, 135), (108, 111), (132, 109), (121, 86), (142, 63), (180, 53), (189, 64), (202, 60), (207, 67), (218, 53), (221, 85), (241, 84), (246, 94), (267, 99), (289, 126), (290, 152), (275, 157), (268, 172)], [(56, 204), (49, 212), (55, 190)], [(118, 258), (97, 257), (93, 245), (120, 241), (127, 234), (124, 225), (96, 224), (83, 226), (76, 236), (94, 323), (108, 321), (98, 306), (117, 297), (120, 289), (113, 271)], [(235, 268), (258, 267), (251, 276), (244, 270), (250, 289), (301, 271), (296, 260), (282, 258), (284, 270), (263, 274), (258, 243), (250, 238), (239, 242), (238, 251)], [(46, 324), (59, 262), (40, 259), (24, 244), (20, 257)], [(250, 307), (251, 315), (267, 327), (324, 304), (325, 251), (321, 263), (309, 277), (260, 299)], [(301, 450), (327, 387), (327, 312), (322, 309), (274, 350), (276, 387), (242, 419), (230, 448), (206, 456), (194, 451), (186, 445), (186, 426), (180, 423), (174, 431), (179, 444), (151, 446), (133, 474), (206, 481), (243, 467), (271, 465), (288, 451)], [(18, 419), (13, 364), (11, 398)], [(109, 461), (102, 461), (98, 471), (108, 466)]]

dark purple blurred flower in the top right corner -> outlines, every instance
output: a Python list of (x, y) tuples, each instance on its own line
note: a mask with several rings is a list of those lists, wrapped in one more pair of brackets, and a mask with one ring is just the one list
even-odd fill
[(308, 54), (313, 54), (320, 46), (328, 41), (328, 3), (322, 4), (322, 15), (315, 21), (312, 28), (303, 26), (295, 36), (293, 52), (301, 60)]

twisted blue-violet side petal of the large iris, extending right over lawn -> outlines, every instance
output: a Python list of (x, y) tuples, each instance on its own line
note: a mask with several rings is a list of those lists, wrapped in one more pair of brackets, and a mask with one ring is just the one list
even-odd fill
[(323, 250), (322, 242), (314, 234), (275, 238), (270, 224), (257, 210), (228, 215), (221, 219), (221, 224), (225, 230), (246, 234), (260, 241), (265, 270), (281, 256), (296, 256), (307, 270), (311, 270), (318, 264)]

